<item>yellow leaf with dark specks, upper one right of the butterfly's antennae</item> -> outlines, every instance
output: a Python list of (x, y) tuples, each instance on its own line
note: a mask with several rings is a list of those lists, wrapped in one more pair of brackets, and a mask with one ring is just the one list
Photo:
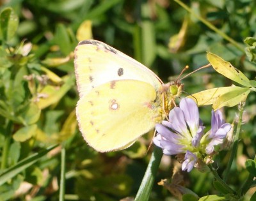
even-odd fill
[(214, 70), (221, 75), (233, 80), (245, 87), (251, 87), (250, 80), (239, 70), (237, 70), (232, 64), (221, 59), (221, 57), (207, 52), (207, 59), (211, 63)]

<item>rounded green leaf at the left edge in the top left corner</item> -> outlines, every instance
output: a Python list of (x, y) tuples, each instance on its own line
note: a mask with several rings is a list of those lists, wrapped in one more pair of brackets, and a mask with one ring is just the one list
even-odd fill
[(12, 8), (4, 8), (0, 13), (1, 37), (4, 41), (9, 41), (15, 35), (19, 26), (19, 18)]

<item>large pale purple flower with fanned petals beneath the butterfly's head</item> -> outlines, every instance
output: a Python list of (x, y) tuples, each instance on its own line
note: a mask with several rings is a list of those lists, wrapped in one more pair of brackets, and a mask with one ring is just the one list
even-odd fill
[(169, 121), (156, 125), (157, 136), (153, 142), (163, 149), (166, 155), (186, 153), (200, 144), (204, 127), (199, 119), (195, 101), (184, 98), (180, 107), (170, 111)]

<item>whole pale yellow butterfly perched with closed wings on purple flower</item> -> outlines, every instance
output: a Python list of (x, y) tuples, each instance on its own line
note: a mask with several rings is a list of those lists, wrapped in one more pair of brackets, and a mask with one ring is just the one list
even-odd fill
[(99, 152), (122, 150), (166, 118), (182, 84), (164, 84), (143, 64), (105, 43), (78, 43), (76, 115), (84, 140)]

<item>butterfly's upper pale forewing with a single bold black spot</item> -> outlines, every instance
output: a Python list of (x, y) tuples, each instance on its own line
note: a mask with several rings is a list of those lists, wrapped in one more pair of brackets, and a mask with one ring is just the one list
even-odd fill
[(115, 48), (95, 40), (81, 41), (75, 50), (79, 96), (112, 80), (140, 80), (161, 88), (162, 81), (147, 67)]

